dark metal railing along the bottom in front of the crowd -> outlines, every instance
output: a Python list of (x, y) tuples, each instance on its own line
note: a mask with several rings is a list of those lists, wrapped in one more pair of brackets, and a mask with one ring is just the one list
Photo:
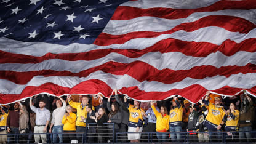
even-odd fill
[[(140, 142), (256, 142), (256, 131), (250, 132), (116, 132), (113, 123), (106, 123), (99, 127), (96, 124), (87, 124), (85, 132), (63, 133), (23, 133), (23, 134), (0, 134), (0, 137), (8, 137), (8, 143), (34, 143), (34, 137), (46, 135), (46, 143), (127, 143), (127, 135), (141, 134)], [(158, 137), (164, 134), (164, 137)], [(170, 136), (179, 134), (177, 140)], [(57, 136), (57, 137), (56, 137)], [(61, 136), (62, 138), (59, 138)], [(56, 138), (55, 138), (56, 137)], [(54, 142), (54, 138), (56, 142)], [(61, 140), (62, 139), (62, 140)], [(0, 142), (4, 143), (4, 142)], [(39, 143), (43, 143), (40, 140)]]

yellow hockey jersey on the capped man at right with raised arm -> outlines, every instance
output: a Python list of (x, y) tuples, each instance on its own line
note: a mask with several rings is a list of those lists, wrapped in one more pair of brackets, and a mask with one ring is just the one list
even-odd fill
[(205, 126), (211, 129), (217, 129), (217, 126), (222, 122), (225, 112), (223, 111), (222, 106), (216, 106), (213, 103), (206, 105), (208, 114), (206, 116)]

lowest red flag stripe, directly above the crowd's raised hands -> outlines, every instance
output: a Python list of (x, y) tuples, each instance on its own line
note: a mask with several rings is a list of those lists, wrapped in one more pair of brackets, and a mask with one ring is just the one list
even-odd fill
[[(222, 92), (225, 95), (234, 95), (237, 92), (241, 91), (240, 88), (233, 87), (222, 87), (214, 92)], [(245, 89), (247, 90), (247, 89)], [(252, 89), (248, 89), (252, 94), (256, 95), (256, 86)], [(123, 94), (127, 94), (130, 97), (136, 100), (164, 100), (170, 95), (181, 95), (184, 98), (191, 100), (191, 102), (198, 102), (204, 94), (206, 94), (207, 89), (200, 85), (192, 85), (184, 89), (172, 89), (167, 92), (145, 92), (138, 89), (137, 86), (134, 87), (124, 87), (120, 90)], [(47, 92), (54, 95), (63, 95), (63, 94), (98, 94), (98, 92), (103, 92), (103, 95), (108, 96), (111, 94), (112, 89), (105, 84), (105, 82), (99, 80), (90, 80), (82, 82), (74, 86), (72, 89), (58, 86), (51, 83), (46, 83), (38, 87), (28, 86), (26, 87), (22, 94), (0, 94), (0, 103), (6, 104), (14, 102), (15, 100), (20, 100), (22, 98), (30, 97), (39, 93)], [(197, 95), (198, 97), (194, 97)]]

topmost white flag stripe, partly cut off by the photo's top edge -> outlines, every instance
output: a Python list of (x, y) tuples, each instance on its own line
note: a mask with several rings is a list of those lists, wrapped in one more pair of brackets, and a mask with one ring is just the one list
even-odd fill
[(138, 0), (128, 1), (120, 6), (138, 7), (148, 9), (153, 7), (179, 8), (179, 9), (196, 9), (207, 7), (220, 0)]

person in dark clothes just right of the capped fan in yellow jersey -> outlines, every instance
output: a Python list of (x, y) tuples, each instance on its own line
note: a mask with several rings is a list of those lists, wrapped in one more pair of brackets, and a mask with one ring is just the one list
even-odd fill
[(189, 106), (190, 114), (188, 115), (188, 142), (198, 142), (197, 134), (196, 132), (196, 124), (198, 122), (198, 111), (194, 108), (194, 103), (190, 104)]

